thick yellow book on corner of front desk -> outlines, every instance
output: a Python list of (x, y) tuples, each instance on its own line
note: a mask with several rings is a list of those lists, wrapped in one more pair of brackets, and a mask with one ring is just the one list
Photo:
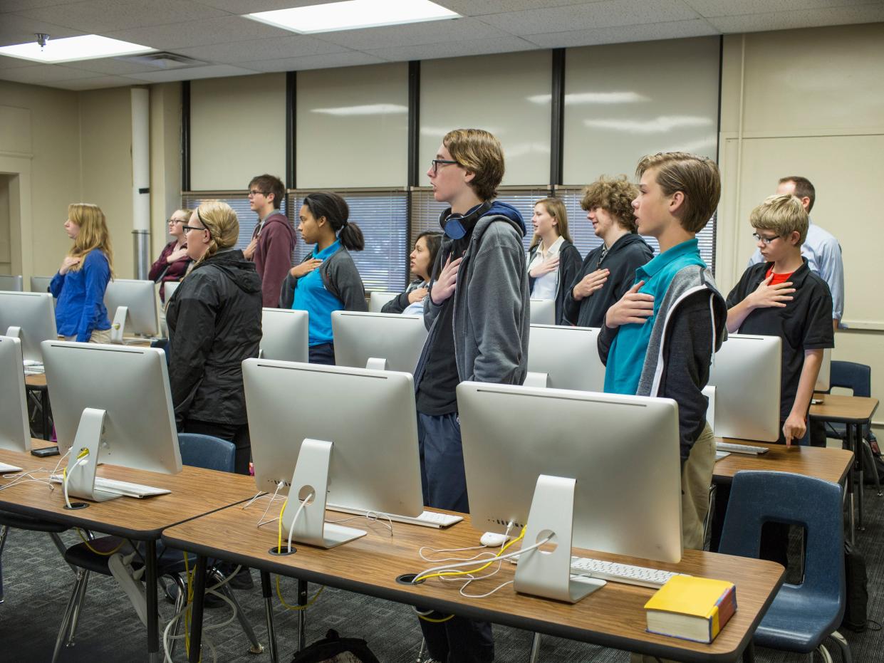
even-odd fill
[(736, 587), (726, 580), (673, 575), (644, 609), (649, 633), (708, 644), (736, 612)]

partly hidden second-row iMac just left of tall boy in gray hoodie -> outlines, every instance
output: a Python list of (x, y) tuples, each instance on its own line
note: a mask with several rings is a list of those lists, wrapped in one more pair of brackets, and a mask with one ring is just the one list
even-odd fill
[(339, 366), (414, 373), (427, 339), (423, 316), (334, 311), (334, 359)]

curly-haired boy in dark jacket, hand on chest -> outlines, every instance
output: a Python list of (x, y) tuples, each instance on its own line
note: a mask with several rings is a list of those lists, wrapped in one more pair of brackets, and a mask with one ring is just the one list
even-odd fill
[(636, 270), (653, 257), (652, 248), (636, 233), (632, 201), (638, 187), (619, 178), (602, 177), (583, 191), (580, 206), (602, 240), (583, 259), (565, 293), (565, 318), (578, 327), (601, 327), (605, 314), (626, 294)]

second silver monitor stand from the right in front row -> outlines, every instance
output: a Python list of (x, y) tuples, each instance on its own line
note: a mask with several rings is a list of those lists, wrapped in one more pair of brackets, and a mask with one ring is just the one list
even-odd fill
[[(328, 497), (331, 442), (306, 438), (301, 443), (298, 462), (294, 466), (292, 485), (288, 491), (288, 504), (282, 517), (283, 532), (292, 527), (294, 515), (301, 507), (301, 499), (310, 498), (295, 523), (292, 539), (301, 544), (319, 548), (333, 548), (356, 538), (364, 537), (365, 530), (343, 527), (325, 522), (325, 502)], [(301, 497), (303, 496), (303, 497)]]

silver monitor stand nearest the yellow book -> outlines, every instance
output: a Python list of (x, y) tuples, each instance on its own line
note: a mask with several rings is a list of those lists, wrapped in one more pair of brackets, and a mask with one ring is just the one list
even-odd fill
[(552, 551), (535, 548), (519, 555), (514, 589), (522, 594), (576, 603), (606, 582), (598, 578), (571, 579), (571, 540), (574, 527), (575, 479), (540, 475), (531, 500), (522, 546), (551, 537)]

